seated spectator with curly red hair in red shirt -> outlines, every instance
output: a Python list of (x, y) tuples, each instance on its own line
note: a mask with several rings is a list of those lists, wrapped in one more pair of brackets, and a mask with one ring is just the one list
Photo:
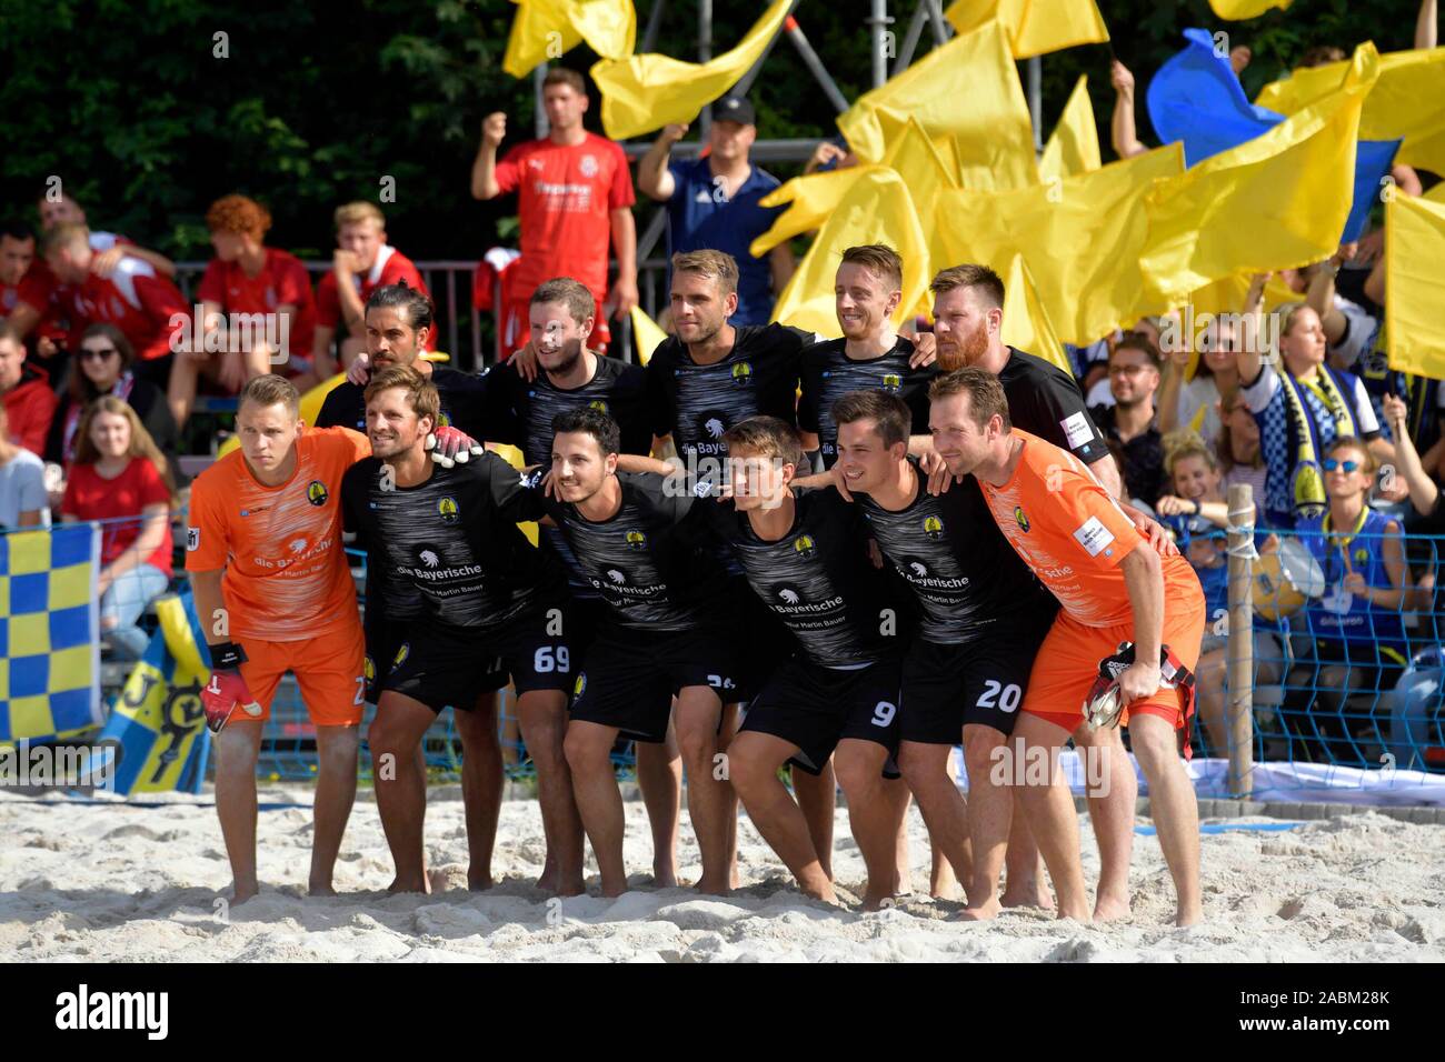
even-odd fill
[(207, 211), (215, 257), (197, 289), (202, 341), (176, 353), (168, 390), (172, 415), (182, 423), (201, 377), (227, 394), (273, 370), (289, 376), (298, 390), (316, 383), (311, 277), (301, 259), (262, 243), (270, 223), (270, 212), (244, 195), (223, 197)]

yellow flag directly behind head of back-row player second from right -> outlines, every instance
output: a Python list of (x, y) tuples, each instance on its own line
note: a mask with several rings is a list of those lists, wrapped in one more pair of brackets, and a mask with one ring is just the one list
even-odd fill
[(903, 299), (893, 315), (902, 324), (928, 289), (928, 240), (907, 185), (886, 166), (866, 169), (842, 197), (777, 298), (773, 321), (840, 335), (832, 295), (838, 263), (844, 249), (866, 243), (887, 244), (903, 259)]

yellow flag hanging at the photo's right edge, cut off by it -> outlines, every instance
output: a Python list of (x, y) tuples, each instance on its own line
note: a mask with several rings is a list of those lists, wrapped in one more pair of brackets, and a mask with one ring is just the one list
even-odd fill
[(1390, 368), (1445, 379), (1445, 205), (1396, 195), (1384, 207), (1384, 342)]

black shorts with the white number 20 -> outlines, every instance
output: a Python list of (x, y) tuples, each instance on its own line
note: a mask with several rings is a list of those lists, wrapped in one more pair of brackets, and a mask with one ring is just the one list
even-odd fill
[(990, 631), (957, 646), (915, 642), (903, 657), (899, 740), (957, 746), (968, 724), (1012, 734), (1019, 705), (1029, 692), (1033, 657), (1048, 633), (1045, 623), (1036, 629)]

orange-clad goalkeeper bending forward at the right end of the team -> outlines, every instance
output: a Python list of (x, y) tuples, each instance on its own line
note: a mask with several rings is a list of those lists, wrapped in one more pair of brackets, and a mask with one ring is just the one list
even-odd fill
[[(1016, 754), (1046, 764), (1048, 785), (1022, 785), (1022, 802), (1058, 893), (1059, 916), (1087, 922), (1078, 821), (1058, 754), (1084, 721), (1105, 662), (1130, 746), (1149, 782), (1159, 844), (1173, 876), (1175, 922), (1202, 918), (1199, 813), (1179, 761), (1194, 712), (1192, 676), (1204, 634), (1199, 579), (1178, 553), (1160, 558), (1088, 468), (1036, 435), (1016, 431), (997, 377), (961, 368), (931, 387), (929, 426), (954, 474), (972, 474), (994, 523), (1059, 600), (1039, 649), (1019, 720)], [(1130, 647), (1123, 650), (1121, 646)], [(1117, 656), (1116, 656), (1117, 655)], [(1017, 776), (1012, 777), (1017, 783)], [(1095, 826), (1103, 828), (1095, 819)], [(1124, 829), (1133, 831), (1133, 824)], [(1100, 848), (1104, 848), (1104, 838)], [(1116, 847), (1127, 845), (1113, 838)]]

